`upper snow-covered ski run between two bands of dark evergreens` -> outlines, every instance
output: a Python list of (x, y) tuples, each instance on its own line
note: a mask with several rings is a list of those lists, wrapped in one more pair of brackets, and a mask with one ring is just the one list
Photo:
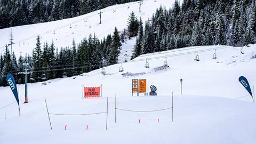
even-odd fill
[[(138, 19), (141, 18), (145, 21), (161, 4), (168, 8), (173, 5), (173, 2), (174, 0), (145, 0), (141, 6), (141, 13), (139, 13), (138, 2), (109, 6), (101, 10), (103, 12), (101, 15), (102, 24), (99, 24), (98, 13), (100, 11), (94, 11), (70, 19), (12, 27), (15, 43), (13, 51), (17, 57), (20, 53), (22, 55), (30, 54), (35, 47), (37, 35), (42, 37), (42, 43), (53, 41), (55, 46), (59, 48), (71, 45), (73, 38), (75, 38), (76, 43), (79, 43), (89, 34), (95, 34), (101, 39), (110, 33), (112, 34), (115, 26), (118, 30), (123, 30), (132, 11), (135, 12)], [(113, 13), (114, 10), (115, 13)], [(11, 28), (0, 29), (0, 52), (3, 52), (5, 44), (9, 43), (10, 31)]]

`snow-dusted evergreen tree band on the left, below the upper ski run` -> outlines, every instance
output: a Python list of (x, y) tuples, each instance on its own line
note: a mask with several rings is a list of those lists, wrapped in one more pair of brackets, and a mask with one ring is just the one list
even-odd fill
[[(122, 33), (123, 35), (123, 33)], [(41, 82), (46, 79), (71, 77), (118, 62), (121, 36), (117, 28), (113, 35), (109, 34), (101, 41), (95, 35), (89, 35), (72, 46), (54, 46), (53, 41), (41, 43), (41, 37), (36, 38), (36, 47), (32, 55), (20, 55), (18, 61), (14, 52), (11, 54), (6, 46), (4, 54), (0, 55), (0, 86), (6, 86), (6, 75), (12, 73), (18, 84), (25, 82), (24, 72), (28, 71), (28, 82)]]

